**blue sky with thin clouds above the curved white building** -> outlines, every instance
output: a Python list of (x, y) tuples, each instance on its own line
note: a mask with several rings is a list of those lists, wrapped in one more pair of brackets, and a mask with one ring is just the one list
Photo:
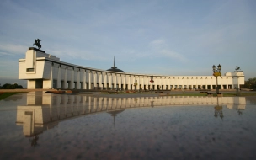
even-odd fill
[(167, 76), (256, 77), (255, 0), (1, 0), (0, 83), (19, 83), (18, 60), (41, 50), (68, 63)]

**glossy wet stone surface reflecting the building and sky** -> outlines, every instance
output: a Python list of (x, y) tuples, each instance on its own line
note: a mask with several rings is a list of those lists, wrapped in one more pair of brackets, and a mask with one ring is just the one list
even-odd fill
[(19, 93), (0, 159), (254, 159), (255, 99)]

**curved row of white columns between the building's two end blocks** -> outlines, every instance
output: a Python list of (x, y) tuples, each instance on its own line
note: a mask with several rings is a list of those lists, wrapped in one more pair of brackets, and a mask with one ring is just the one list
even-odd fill
[[(53, 64), (52, 88), (61, 89), (123, 89), (123, 90), (170, 90), (215, 89), (213, 76), (159, 76), (123, 72), (97, 71)], [(151, 77), (153, 83), (150, 83)], [(218, 77), (221, 89), (239, 88), (239, 76)]]

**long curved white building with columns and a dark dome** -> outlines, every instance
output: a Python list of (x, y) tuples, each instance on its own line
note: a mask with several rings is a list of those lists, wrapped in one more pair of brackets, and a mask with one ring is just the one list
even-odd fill
[[(27, 88), (56, 89), (215, 89), (214, 76), (172, 76), (124, 72), (117, 67), (100, 70), (60, 61), (30, 47), (24, 59), (19, 59), (19, 79), (27, 80)], [(242, 71), (227, 72), (217, 77), (218, 88), (235, 89), (244, 84)]]

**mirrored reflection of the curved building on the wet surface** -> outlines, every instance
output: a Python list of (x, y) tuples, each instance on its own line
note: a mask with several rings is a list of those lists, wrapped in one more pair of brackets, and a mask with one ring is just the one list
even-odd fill
[[(54, 128), (59, 122), (95, 113), (109, 113), (113, 117), (125, 109), (152, 108), (157, 106), (212, 105), (215, 116), (223, 118), (222, 106), (228, 109), (245, 109), (244, 97), (137, 97), (112, 98), (88, 95), (27, 93), (27, 105), (17, 106), (17, 125), (23, 126), (24, 136), (31, 146), (36, 146), (39, 135)], [(240, 114), (241, 115), (241, 114)]]

